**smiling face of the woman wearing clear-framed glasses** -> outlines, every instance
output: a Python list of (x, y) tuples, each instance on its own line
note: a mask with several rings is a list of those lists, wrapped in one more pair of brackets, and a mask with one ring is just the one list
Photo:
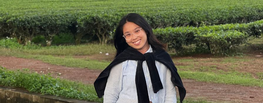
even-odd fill
[[(134, 24), (133, 22), (126, 22), (123, 25), (123, 34), (127, 34), (127, 33), (131, 33), (131, 39), (130, 40), (126, 40), (126, 42), (128, 43), (129, 46), (133, 47), (134, 49), (137, 49), (138, 51), (147, 51), (149, 49), (149, 44), (147, 41), (147, 35), (146, 32), (144, 31), (144, 29), (141, 29), (140, 31), (140, 35), (139, 36), (135, 36), (135, 30), (140, 29), (141, 27), (138, 26), (137, 24)], [(133, 34), (134, 33), (134, 34)]]

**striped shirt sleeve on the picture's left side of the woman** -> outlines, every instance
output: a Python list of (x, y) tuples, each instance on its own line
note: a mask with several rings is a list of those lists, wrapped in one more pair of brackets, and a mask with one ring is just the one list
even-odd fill
[(116, 103), (122, 87), (122, 63), (112, 67), (105, 87), (103, 103)]

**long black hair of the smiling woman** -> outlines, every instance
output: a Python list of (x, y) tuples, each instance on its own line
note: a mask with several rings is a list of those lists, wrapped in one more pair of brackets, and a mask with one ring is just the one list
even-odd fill
[(153, 35), (153, 30), (148, 24), (148, 22), (139, 14), (130, 13), (120, 20), (120, 23), (117, 29), (115, 30), (114, 46), (117, 50), (115, 57), (117, 57), (121, 52), (123, 52), (127, 47), (129, 47), (129, 45), (125, 41), (125, 38), (123, 38), (123, 25), (126, 22), (133, 22), (134, 24), (137, 24), (138, 26), (142, 27), (146, 31), (148, 44), (150, 44), (153, 49), (165, 51), (165, 45), (160, 43), (160, 41), (158, 41), (155, 35)]

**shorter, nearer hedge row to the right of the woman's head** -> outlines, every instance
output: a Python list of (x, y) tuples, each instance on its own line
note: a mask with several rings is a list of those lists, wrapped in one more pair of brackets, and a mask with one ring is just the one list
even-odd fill
[(260, 38), (263, 33), (263, 20), (247, 24), (224, 24), (202, 27), (167, 27), (154, 29), (154, 34), (169, 48), (180, 52), (183, 45), (196, 45), (215, 55), (228, 55), (239, 44), (244, 44), (249, 36)]

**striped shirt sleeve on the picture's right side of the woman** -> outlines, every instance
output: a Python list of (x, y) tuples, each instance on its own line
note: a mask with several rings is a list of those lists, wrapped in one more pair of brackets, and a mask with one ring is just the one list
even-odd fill
[(171, 81), (171, 71), (167, 67), (165, 75), (165, 103), (176, 103), (176, 89)]

